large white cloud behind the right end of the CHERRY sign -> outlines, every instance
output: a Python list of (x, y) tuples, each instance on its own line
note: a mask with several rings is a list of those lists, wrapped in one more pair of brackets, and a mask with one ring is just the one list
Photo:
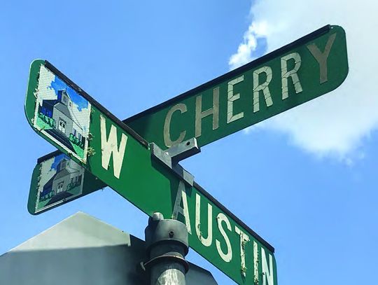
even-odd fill
[(374, 88), (378, 82), (378, 39), (374, 31), (378, 18), (373, 13), (377, 8), (372, 0), (361, 0), (358, 5), (341, 0), (255, 2), (244, 41), (230, 57), (231, 69), (253, 58), (258, 36), (266, 36), (269, 52), (327, 24), (344, 27), (349, 57), (349, 75), (337, 90), (255, 128), (284, 132), (305, 151), (336, 156), (348, 164), (351, 158), (363, 158), (358, 148), (378, 127), (378, 94)]

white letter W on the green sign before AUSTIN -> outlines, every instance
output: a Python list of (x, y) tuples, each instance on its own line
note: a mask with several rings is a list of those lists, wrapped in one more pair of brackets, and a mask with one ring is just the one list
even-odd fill
[(106, 139), (106, 119), (100, 115), (100, 130), (101, 130), (101, 151), (102, 151), (102, 167), (108, 170), (111, 155), (113, 154), (113, 172), (114, 176), (120, 178), (120, 171), (123, 165), (123, 157), (125, 155), (125, 148), (127, 143), (127, 136), (122, 133), (120, 146), (117, 143), (117, 129), (111, 125), (109, 138)]

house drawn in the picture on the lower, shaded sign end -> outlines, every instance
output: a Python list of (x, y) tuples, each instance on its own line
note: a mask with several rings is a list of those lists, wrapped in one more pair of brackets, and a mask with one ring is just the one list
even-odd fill
[(69, 197), (67, 193), (69, 190), (81, 188), (83, 176), (83, 167), (72, 160), (63, 158), (57, 165), (57, 173), (43, 186), (39, 200), (46, 200), (55, 195)]

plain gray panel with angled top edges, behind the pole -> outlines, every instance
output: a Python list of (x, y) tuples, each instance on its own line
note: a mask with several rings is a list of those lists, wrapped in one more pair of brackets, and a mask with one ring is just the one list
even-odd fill
[[(144, 241), (78, 212), (0, 256), (0, 284), (144, 285)], [(190, 264), (187, 284), (217, 284)]]

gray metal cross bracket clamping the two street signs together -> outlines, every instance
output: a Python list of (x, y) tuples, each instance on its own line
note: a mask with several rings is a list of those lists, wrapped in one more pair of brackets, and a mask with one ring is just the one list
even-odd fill
[(195, 137), (188, 139), (187, 141), (183, 141), (181, 144), (176, 146), (172, 146), (171, 148), (168, 148), (167, 151), (163, 151), (155, 143), (151, 143), (149, 146), (151, 149), (151, 155), (154, 158), (163, 162), (163, 164), (169, 167), (169, 169), (172, 169), (181, 179), (183, 179), (183, 181), (188, 183), (189, 186), (193, 186), (193, 174), (190, 174), (190, 172), (179, 165), (179, 162), (201, 152), (201, 148), (198, 146), (197, 139)]

